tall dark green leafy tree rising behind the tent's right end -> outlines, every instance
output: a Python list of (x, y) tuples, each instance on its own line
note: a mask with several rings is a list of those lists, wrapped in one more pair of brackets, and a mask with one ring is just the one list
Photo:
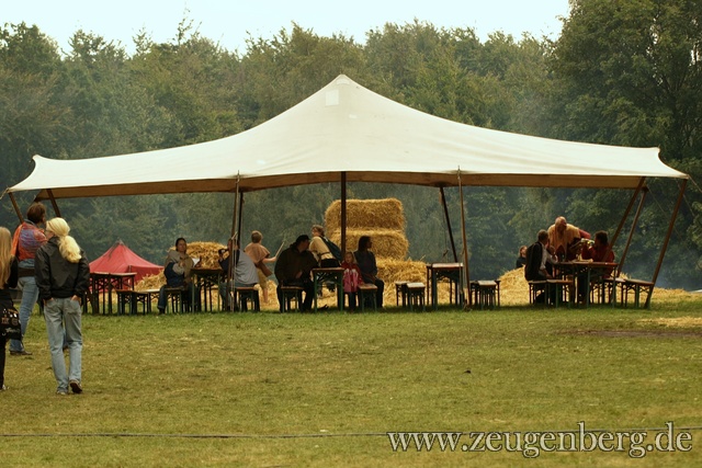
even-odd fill
[[(664, 161), (689, 170), (693, 176), (700, 174), (694, 171), (699, 164), (690, 161), (699, 159), (702, 145), (702, 4), (573, 0), (570, 5), (570, 16), (553, 47), (551, 61), (558, 98), (555, 134), (584, 141), (659, 146)], [(665, 182), (650, 181), (652, 196), (675, 199), (677, 187)], [(568, 202), (576, 203), (577, 196)], [(688, 197), (692, 207), (700, 194), (689, 191)], [(592, 208), (590, 216), (598, 216), (601, 204), (587, 205)], [(699, 216), (688, 206), (678, 220), (682, 232)], [(632, 258), (649, 259), (650, 264), (670, 213), (670, 206), (650, 205), (638, 230), (645, 236)], [(677, 241), (686, 244), (680, 251), (688, 253), (676, 256), (669, 252), (667, 276), (677, 284), (699, 284), (702, 272), (694, 263), (702, 244), (695, 247), (684, 238)]]

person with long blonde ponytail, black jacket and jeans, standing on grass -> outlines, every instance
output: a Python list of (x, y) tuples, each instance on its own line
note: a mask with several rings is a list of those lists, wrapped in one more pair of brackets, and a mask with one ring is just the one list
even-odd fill
[[(52, 367), (58, 387), (57, 395), (83, 391), (81, 359), (83, 339), (80, 327), (80, 300), (88, 290), (90, 265), (76, 239), (68, 236), (70, 228), (63, 218), (46, 222), (48, 241), (36, 251), (34, 274), (44, 303), (44, 320)], [(64, 342), (68, 346), (69, 372), (66, 373)]]

